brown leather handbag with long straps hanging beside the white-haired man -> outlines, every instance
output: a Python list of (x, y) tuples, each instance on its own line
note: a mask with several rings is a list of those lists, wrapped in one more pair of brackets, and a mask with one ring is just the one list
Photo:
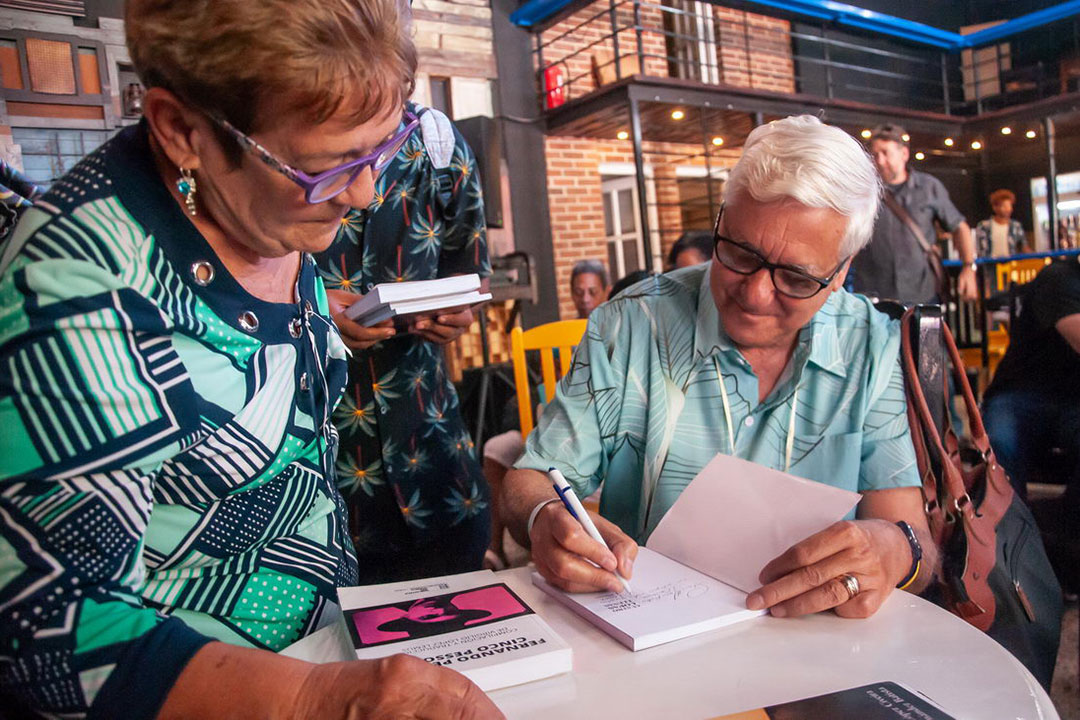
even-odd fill
[[(983, 426), (971, 385), (948, 325), (937, 337), (947, 358), (918, 342), (916, 308), (904, 313), (902, 363), (912, 441), (922, 479), (930, 533), (937, 546), (941, 575), (926, 594), (945, 609), (986, 631), (1010, 650), (1047, 688), (1053, 677), (1063, 600), (1031, 513), (1013, 491)], [(934, 309), (936, 311), (936, 309)], [(918, 359), (917, 359), (918, 358)], [(943, 363), (944, 361), (944, 363)], [(927, 386), (920, 365), (936, 366), (935, 386)], [(927, 400), (946, 395), (944, 370), (951, 365), (963, 397), (970, 447), (961, 449), (947, 411), (939, 422)]]

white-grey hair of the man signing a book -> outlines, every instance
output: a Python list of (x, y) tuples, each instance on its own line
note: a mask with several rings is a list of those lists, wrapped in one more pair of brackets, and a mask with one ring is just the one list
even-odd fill
[(728, 176), (725, 194), (759, 203), (794, 200), (848, 218), (840, 256), (863, 249), (874, 232), (881, 179), (862, 144), (813, 116), (792, 116), (754, 128)]

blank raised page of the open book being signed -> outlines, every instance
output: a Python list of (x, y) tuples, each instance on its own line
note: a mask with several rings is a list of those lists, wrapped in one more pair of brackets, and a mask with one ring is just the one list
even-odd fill
[[(781, 553), (843, 518), (858, 492), (717, 454), (690, 481), (647, 546), (745, 593)], [(634, 572), (635, 589), (637, 572)]]

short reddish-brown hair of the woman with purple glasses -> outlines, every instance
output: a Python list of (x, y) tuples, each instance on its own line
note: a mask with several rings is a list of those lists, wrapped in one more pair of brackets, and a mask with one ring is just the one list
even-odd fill
[(145, 85), (245, 133), (272, 122), (271, 103), (313, 124), (345, 108), (362, 124), (416, 79), (404, 0), (127, 0), (124, 24)]

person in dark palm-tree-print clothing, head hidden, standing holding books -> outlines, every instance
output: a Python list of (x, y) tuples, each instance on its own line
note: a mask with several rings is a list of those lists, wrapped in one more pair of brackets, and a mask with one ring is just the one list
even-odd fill
[(343, 311), (379, 283), (491, 272), (472, 150), (449, 119), (406, 104), (419, 127), (316, 257), (334, 321), (352, 350), (338, 488), (360, 565), (359, 584), (480, 570), (491, 532), (490, 493), (443, 358), (473, 322), (469, 309), (395, 329)]

